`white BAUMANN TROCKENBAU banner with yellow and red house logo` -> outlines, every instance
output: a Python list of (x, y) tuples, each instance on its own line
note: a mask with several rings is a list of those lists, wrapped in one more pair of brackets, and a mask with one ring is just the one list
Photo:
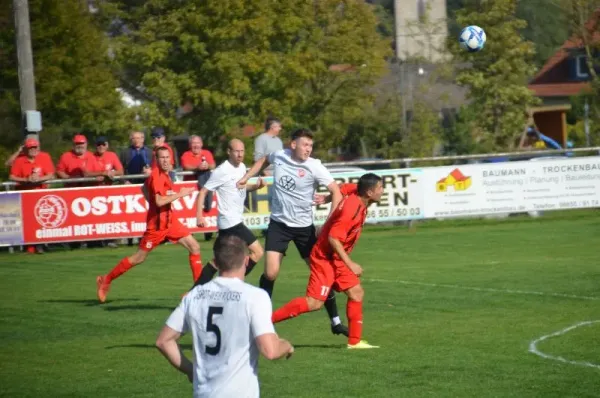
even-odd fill
[(425, 218), (600, 207), (600, 157), (423, 169)]

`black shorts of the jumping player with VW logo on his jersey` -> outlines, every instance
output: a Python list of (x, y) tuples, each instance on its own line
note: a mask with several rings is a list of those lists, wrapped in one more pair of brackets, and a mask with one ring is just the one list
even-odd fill
[(282, 222), (271, 219), (267, 228), (265, 250), (285, 254), (290, 241), (294, 241), (300, 257), (308, 258), (317, 242), (315, 226), (288, 227)]

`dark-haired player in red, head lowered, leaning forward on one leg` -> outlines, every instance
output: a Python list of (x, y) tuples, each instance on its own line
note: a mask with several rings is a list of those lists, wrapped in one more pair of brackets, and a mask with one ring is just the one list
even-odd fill
[[(350, 184), (351, 185), (351, 184)], [(351, 192), (352, 187), (347, 187)], [(310, 254), (310, 277), (306, 297), (298, 297), (273, 313), (273, 323), (320, 309), (333, 288), (348, 296), (348, 348), (378, 348), (362, 336), (362, 302), (364, 290), (359, 277), (363, 270), (352, 261), (350, 253), (356, 245), (367, 217), (367, 208), (383, 194), (382, 179), (367, 173), (360, 177), (356, 193), (344, 197), (323, 226)]]

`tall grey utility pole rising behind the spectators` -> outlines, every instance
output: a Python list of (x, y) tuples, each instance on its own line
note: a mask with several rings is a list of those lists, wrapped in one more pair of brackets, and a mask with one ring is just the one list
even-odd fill
[(25, 112), (36, 110), (33, 54), (31, 51), (31, 29), (29, 26), (28, 0), (13, 0), (17, 39), (19, 92), (23, 130), (26, 130)]

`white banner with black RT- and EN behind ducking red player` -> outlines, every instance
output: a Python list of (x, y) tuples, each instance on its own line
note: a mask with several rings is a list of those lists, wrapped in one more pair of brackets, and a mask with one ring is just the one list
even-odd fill
[[(422, 169), (395, 169), (371, 171), (383, 178), (384, 194), (379, 203), (372, 204), (367, 213), (368, 223), (414, 220), (424, 217)], [(338, 183), (356, 183), (365, 172), (335, 173)], [(319, 187), (319, 193), (326, 193)], [(316, 206), (314, 220), (321, 225), (329, 215), (329, 205)]]

